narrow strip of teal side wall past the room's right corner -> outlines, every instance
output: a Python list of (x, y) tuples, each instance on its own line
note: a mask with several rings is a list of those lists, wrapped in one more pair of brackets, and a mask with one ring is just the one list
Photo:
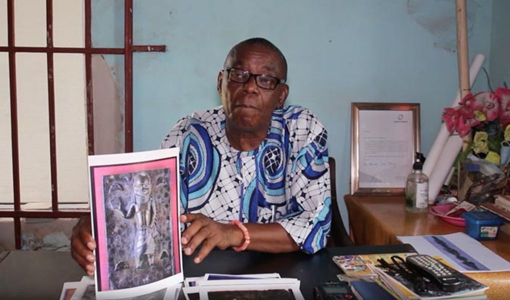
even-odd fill
[(510, 1), (494, 0), (491, 35), (491, 86), (510, 86)]

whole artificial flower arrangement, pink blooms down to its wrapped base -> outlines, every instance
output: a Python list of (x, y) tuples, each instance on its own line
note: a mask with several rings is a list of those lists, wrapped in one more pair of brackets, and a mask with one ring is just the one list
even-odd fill
[[(467, 199), (478, 204), (485, 202), (487, 193), (501, 191), (507, 185), (510, 170), (510, 89), (498, 88), (466, 95), (459, 105), (445, 108), (443, 120), (450, 133), (457, 132), (461, 137), (472, 134), (466, 150), (461, 152), (461, 175), (458, 178), (459, 200)], [(491, 176), (477, 176), (468, 172), (476, 162), (477, 167), (486, 170)], [(464, 166), (463, 166), (464, 165)], [(462, 184), (461, 184), (462, 182)]]

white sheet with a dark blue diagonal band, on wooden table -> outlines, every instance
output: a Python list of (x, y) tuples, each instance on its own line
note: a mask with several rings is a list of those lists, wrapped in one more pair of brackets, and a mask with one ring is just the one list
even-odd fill
[(463, 232), (397, 238), (411, 244), (419, 254), (440, 256), (461, 272), (510, 271), (510, 262)]

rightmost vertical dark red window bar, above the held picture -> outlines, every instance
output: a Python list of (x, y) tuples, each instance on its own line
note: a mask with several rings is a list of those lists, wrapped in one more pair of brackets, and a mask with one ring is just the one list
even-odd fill
[(133, 152), (133, 0), (124, 1), (125, 152)]

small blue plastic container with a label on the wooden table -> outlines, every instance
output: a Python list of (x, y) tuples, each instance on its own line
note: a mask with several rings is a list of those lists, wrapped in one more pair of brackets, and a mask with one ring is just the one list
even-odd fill
[(503, 224), (503, 218), (490, 211), (469, 211), (462, 217), (466, 219), (466, 233), (477, 240), (495, 239)]

